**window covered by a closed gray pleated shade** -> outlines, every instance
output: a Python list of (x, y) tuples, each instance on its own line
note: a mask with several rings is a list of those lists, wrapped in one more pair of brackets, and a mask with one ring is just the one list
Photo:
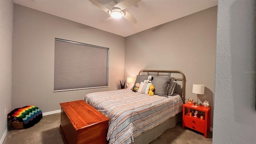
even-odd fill
[(54, 92), (108, 86), (109, 48), (55, 38)]

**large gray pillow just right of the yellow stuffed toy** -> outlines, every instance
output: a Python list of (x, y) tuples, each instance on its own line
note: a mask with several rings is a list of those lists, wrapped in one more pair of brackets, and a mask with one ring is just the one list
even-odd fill
[(170, 83), (172, 77), (161, 77), (161, 76), (154, 76), (153, 80), (151, 81), (154, 86), (154, 94), (159, 96), (167, 96), (166, 90), (167, 86)]

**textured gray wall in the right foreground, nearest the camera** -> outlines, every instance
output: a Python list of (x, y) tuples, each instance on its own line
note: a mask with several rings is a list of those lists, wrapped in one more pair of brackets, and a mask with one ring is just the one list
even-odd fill
[(213, 144), (256, 144), (255, 0), (219, 0)]

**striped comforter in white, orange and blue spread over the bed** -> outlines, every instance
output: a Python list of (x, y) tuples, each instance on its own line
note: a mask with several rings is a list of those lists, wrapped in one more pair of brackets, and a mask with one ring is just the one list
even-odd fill
[(178, 94), (166, 98), (132, 90), (94, 92), (84, 100), (110, 119), (109, 144), (130, 144), (142, 132), (181, 112), (183, 104)]

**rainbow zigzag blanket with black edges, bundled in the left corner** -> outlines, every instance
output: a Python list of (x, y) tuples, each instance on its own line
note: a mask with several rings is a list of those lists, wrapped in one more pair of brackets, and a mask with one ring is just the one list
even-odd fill
[(8, 114), (9, 119), (23, 122), (24, 128), (34, 126), (42, 119), (42, 117), (42, 111), (36, 106), (24, 106), (22, 108), (16, 108)]

